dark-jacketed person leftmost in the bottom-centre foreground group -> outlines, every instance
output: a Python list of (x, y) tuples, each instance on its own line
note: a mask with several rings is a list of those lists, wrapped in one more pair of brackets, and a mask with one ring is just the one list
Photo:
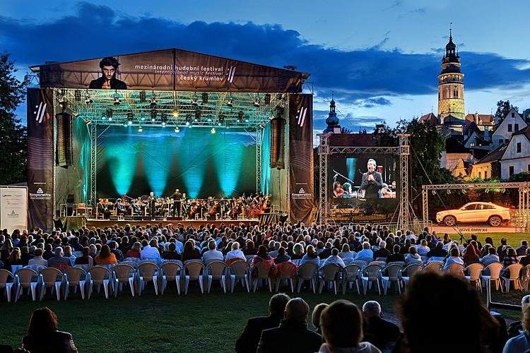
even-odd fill
[(290, 297), (287, 294), (274, 294), (269, 300), (269, 316), (249, 318), (243, 333), (235, 342), (235, 352), (255, 353), (261, 332), (269, 328), (276, 328), (283, 319), (283, 312)]

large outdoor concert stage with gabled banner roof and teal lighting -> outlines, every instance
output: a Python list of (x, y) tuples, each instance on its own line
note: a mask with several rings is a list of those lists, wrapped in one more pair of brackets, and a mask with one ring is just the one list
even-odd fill
[(175, 189), (201, 201), (262, 193), (290, 221), (314, 220), (308, 73), (182, 49), (31, 70), (28, 227), (49, 232), (71, 214), (61, 210), (95, 215), (99, 198), (124, 194), (146, 205), (153, 192), (165, 208)]

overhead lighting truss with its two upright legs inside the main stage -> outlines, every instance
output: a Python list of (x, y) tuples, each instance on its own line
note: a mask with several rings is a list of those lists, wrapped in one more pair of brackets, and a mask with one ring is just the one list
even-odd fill
[[(89, 203), (97, 200), (98, 128), (238, 128), (256, 141), (256, 191), (261, 191), (261, 145), (264, 127), (286, 107), (287, 93), (177, 92), (159, 90), (80, 90), (54, 88), (56, 111), (83, 119), (90, 131)], [(140, 133), (140, 132), (139, 132)]]

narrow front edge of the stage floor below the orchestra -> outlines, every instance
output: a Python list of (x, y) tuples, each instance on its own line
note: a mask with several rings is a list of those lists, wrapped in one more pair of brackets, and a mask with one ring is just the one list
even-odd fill
[(224, 224), (226, 226), (229, 225), (258, 225), (259, 220), (257, 219), (245, 219), (245, 220), (155, 220), (155, 221), (149, 221), (149, 220), (95, 220), (89, 218), (86, 222), (86, 227), (96, 227), (96, 228), (104, 228), (104, 227), (114, 227), (114, 225), (118, 225), (118, 227), (125, 227), (125, 225), (131, 225), (136, 227), (146, 227), (146, 225), (153, 225), (153, 224), (162, 224), (163, 227), (166, 227), (169, 224), (172, 224), (173, 227), (177, 227), (177, 225), (180, 223), (184, 225), (184, 227), (188, 227), (189, 225), (192, 225), (195, 229), (200, 227), (201, 225), (216, 225), (216, 227), (220, 227), (220, 225)]

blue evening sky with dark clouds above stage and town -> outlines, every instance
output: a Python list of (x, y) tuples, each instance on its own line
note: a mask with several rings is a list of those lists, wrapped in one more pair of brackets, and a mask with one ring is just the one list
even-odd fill
[[(2, 0), (0, 49), (20, 74), (44, 61), (179, 47), (312, 73), (315, 128), (331, 91), (341, 125), (394, 124), (437, 109), (449, 22), (466, 111), (530, 107), (528, 1)], [(20, 109), (20, 115), (25, 115)]]

